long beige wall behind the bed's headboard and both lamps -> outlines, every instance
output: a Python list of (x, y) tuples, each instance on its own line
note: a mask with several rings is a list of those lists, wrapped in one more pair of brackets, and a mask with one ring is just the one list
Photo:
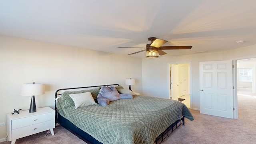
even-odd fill
[[(0, 122), (13, 109), (27, 110), (30, 96), (20, 96), (23, 83), (46, 84), (36, 106), (54, 108), (59, 88), (124, 84), (135, 78), (132, 89), (142, 93), (142, 59), (45, 42), (0, 36)], [(0, 140), (6, 126), (0, 127)]]

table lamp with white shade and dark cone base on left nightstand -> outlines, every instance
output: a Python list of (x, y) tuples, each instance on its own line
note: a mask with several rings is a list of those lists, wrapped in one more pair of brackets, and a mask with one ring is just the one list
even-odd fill
[(32, 96), (29, 113), (36, 112), (35, 96), (44, 94), (44, 84), (22, 84), (21, 95)]

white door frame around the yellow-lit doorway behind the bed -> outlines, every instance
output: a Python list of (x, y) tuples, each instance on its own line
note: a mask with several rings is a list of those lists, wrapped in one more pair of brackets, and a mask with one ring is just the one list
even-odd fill
[(170, 64), (189, 64), (189, 90), (190, 90), (190, 108), (192, 107), (191, 103), (192, 103), (192, 62), (168, 62), (168, 65), (167, 65), (167, 70), (168, 70), (168, 92), (169, 92), (169, 96), (168, 98), (170, 98), (170, 94), (171, 94), (171, 85), (170, 85), (170, 80), (171, 80), (171, 74), (170, 74)]

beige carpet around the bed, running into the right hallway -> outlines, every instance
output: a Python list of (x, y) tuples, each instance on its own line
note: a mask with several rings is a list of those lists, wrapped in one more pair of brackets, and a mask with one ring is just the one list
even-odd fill
[[(238, 119), (221, 118), (200, 114), (191, 110), (195, 120), (185, 119), (162, 144), (256, 144), (256, 97), (238, 96)], [(46, 132), (20, 138), (15, 144), (86, 144), (61, 126), (55, 135)], [(1, 142), (0, 144), (10, 144)]]

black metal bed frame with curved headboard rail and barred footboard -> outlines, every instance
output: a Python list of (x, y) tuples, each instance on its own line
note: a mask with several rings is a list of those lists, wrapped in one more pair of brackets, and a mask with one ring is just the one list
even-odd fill
[[(119, 86), (119, 84), (108, 84), (108, 85), (100, 85), (100, 86)], [(86, 86), (86, 87), (77, 87), (77, 88), (62, 88), (62, 89), (58, 89), (55, 92), (55, 98), (57, 98), (59, 95), (58, 92), (60, 90), (72, 90), (72, 89), (85, 89), (85, 88), (96, 88), (96, 87), (100, 87), (100, 86)], [(63, 125), (63, 119), (65, 119), (65, 123), (69, 124), (69, 126), (73, 127), (72, 128), (68, 128), (68, 126)], [(60, 120), (60, 121), (58, 121)], [(99, 142), (98, 140), (96, 140), (95, 138), (93, 138), (92, 136), (90, 136), (89, 134), (87, 134), (86, 132), (84, 132), (83, 130), (81, 130), (80, 128), (76, 127), (74, 124), (72, 124), (69, 120), (67, 120), (66, 118), (62, 117), (60, 114), (58, 114), (58, 110), (56, 107), (56, 101), (55, 101), (55, 126), (57, 126), (56, 124), (60, 124), (61, 126), (63, 126), (64, 128), (66, 128), (68, 131), (72, 132), (73, 134), (75, 134), (76, 136), (78, 136), (78, 138), (82, 139), (83, 141), (85, 141), (88, 144), (102, 144), (101, 142)], [(176, 130), (179, 126), (181, 125), (185, 125), (185, 120), (184, 120), (184, 116), (182, 116), (182, 118), (180, 120), (177, 120), (176, 122), (174, 122), (173, 124), (171, 124), (166, 130), (164, 130), (164, 132), (162, 132), (155, 140), (154, 144), (161, 144), (166, 138), (168, 138), (168, 136), (170, 136), (174, 130)], [(74, 130), (75, 129), (75, 130)], [(83, 133), (83, 134), (80, 134)], [(90, 140), (87, 140), (86, 138), (84, 138), (84, 136), (86, 136), (86, 138), (89, 138)], [(91, 143), (91, 141), (93, 141), (94, 143)], [(159, 142), (159, 143), (158, 143)]]

